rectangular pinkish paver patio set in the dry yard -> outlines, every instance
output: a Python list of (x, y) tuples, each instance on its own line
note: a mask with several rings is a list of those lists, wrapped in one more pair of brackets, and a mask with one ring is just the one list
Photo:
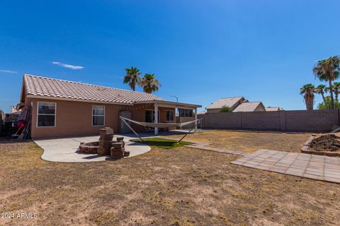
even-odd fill
[(340, 183), (339, 157), (258, 150), (231, 163), (297, 177)]

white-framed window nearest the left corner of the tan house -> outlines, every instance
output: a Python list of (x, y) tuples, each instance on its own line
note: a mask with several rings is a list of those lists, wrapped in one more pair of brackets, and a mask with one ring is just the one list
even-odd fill
[(57, 103), (38, 102), (37, 127), (55, 127)]

